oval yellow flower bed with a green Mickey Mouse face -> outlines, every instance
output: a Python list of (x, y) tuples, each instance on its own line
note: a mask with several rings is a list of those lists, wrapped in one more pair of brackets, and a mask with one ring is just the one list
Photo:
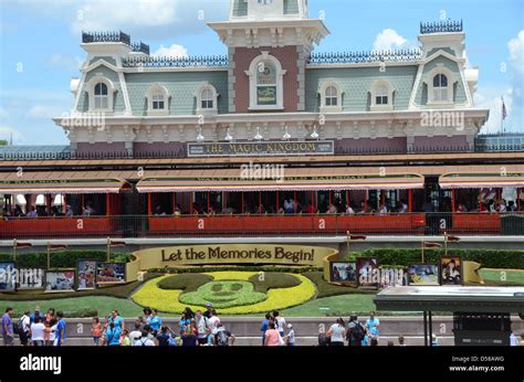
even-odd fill
[[(186, 283), (188, 276), (191, 283)], [(132, 299), (138, 305), (174, 314), (187, 306), (202, 309), (211, 303), (221, 314), (243, 315), (301, 305), (316, 293), (315, 284), (300, 274), (210, 272), (154, 278)]]

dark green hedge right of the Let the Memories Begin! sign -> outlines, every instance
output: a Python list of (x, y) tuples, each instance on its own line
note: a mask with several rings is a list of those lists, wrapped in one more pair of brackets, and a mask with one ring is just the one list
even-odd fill
[[(442, 248), (426, 248), (426, 263), (438, 264), (440, 256), (444, 254)], [(448, 250), (448, 255), (459, 255), (463, 261), (471, 261), (482, 264), (484, 268), (512, 268), (524, 269), (524, 251), (502, 251), (502, 250)], [(408, 266), (418, 264), (421, 261), (420, 248), (373, 248), (361, 253), (352, 253), (346, 258), (354, 259), (360, 257), (376, 257), (379, 264), (392, 266)]]

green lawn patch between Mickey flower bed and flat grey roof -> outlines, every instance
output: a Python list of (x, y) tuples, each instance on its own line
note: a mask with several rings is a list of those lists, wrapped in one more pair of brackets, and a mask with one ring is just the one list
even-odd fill
[(376, 309), (375, 304), (373, 304), (373, 297), (374, 295), (356, 294), (324, 297), (293, 308), (283, 309), (281, 314), (284, 317), (322, 317), (329, 315), (344, 318), (347, 318), (353, 311), (367, 315), (370, 310)]

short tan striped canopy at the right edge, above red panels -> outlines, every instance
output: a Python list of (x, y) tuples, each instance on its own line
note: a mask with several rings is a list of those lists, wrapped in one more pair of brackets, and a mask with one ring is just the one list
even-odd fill
[(439, 178), (442, 189), (524, 188), (524, 173), (446, 173)]

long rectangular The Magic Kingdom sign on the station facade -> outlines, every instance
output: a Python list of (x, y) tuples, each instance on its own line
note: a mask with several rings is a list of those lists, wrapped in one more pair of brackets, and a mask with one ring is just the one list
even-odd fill
[(333, 140), (188, 144), (188, 157), (333, 155)]

